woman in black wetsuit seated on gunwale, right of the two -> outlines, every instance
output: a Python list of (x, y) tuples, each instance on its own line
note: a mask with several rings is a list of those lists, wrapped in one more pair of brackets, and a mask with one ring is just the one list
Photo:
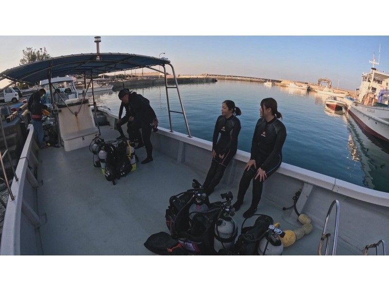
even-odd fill
[(252, 138), (250, 160), (239, 183), (238, 198), (232, 205), (235, 211), (239, 210), (252, 180), (252, 201), (243, 214), (245, 218), (255, 214), (261, 200), (263, 182), (280, 167), (286, 138), (286, 128), (279, 120), (282, 114), (277, 110), (276, 100), (265, 98), (261, 101), (260, 117)]

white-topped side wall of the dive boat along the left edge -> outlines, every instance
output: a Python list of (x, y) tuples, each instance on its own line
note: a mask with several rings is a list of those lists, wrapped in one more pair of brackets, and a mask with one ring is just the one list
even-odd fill
[[(34, 176), (34, 168), (38, 165), (36, 153), (38, 145), (34, 139), (34, 127), (27, 127), (28, 135), (20, 154), (16, 168), (18, 180), (13, 179), (11, 191), (14, 200), (8, 199), (5, 209), (4, 224), (1, 234), (0, 255), (20, 255), (20, 237), (28, 236), (35, 240), (35, 229), (44, 224), (46, 217), (39, 217), (34, 210), (36, 188), (40, 183)], [(39, 254), (39, 250), (36, 250)]]

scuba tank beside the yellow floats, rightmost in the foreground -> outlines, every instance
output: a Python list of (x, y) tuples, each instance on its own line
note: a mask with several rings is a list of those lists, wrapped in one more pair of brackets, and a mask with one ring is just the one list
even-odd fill
[(280, 236), (283, 237), (285, 233), (270, 224), (267, 234), (261, 239), (258, 245), (259, 255), (282, 255), (283, 254), (283, 243), (281, 242)]

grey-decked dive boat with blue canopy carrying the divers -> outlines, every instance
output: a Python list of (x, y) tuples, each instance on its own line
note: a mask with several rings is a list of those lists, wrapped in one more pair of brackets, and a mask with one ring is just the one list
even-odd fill
[[(91, 153), (85, 145), (89, 145), (96, 134), (113, 140), (117, 136), (113, 130), (117, 114), (108, 108), (97, 108), (93, 90), (91, 104), (84, 96), (76, 98), (74, 104), (72, 101), (62, 108), (54, 108), (55, 121), (60, 121), (58, 137), (63, 147), (38, 149), (34, 127), (27, 127), (21, 154), (25, 159), (18, 161), (17, 177), (9, 188), (1, 255), (152, 254), (143, 243), (150, 235), (167, 231), (165, 210), (169, 198), (191, 188), (192, 179), (204, 179), (211, 163), (212, 142), (191, 135), (171, 62), (133, 54), (66, 55), (6, 70), (0, 73), (0, 78), (30, 83), (48, 78), (50, 84), (52, 75), (89, 70), (93, 76), (102, 71), (112, 73), (144, 67), (162, 73), (165, 81), (166, 69), (169, 69), (174, 78), (174, 86), (165, 82), (169, 128), (159, 128), (151, 136), (154, 162), (139, 165), (136, 171), (113, 186), (101, 170), (93, 166)], [(181, 111), (169, 107), (168, 95), (172, 90), (177, 90)], [(91, 108), (94, 108), (93, 114), (97, 111), (105, 114), (109, 125), (92, 125)], [(75, 113), (74, 110), (78, 110), (77, 114), (71, 113)], [(171, 113), (183, 116), (186, 133), (174, 130)], [(61, 122), (64, 120), (61, 114), (66, 114), (66, 123)], [(145, 156), (144, 148), (138, 149), (137, 155)], [(212, 202), (221, 200), (220, 194), (226, 191), (236, 197), (241, 173), (249, 158), (250, 153), (237, 151), (210, 197)], [(242, 210), (234, 216), (239, 229), (249, 203), (246, 200)], [(385, 250), (384, 241), (389, 240), (389, 193), (291, 164), (283, 163), (266, 180), (257, 213), (279, 221), (283, 230), (301, 227), (298, 213), (310, 217), (312, 231), (285, 247), (284, 255), (362, 255), (367, 250), (365, 247), (372, 243), (378, 242), (377, 246)], [(329, 233), (332, 233), (331, 241)], [(328, 244), (325, 244), (326, 239)], [(322, 245), (325, 247), (321, 252)]]

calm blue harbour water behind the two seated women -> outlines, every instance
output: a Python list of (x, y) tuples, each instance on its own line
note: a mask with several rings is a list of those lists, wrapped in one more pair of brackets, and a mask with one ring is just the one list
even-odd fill
[[(164, 87), (134, 89), (150, 100), (161, 127), (169, 128)], [(287, 137), (283, 162), (357, 185), (389, 192), (389, 144), (364, 134), (351, 117), (325, 109), (325, 95), (240, 81), (180, 85), (193, 136), (211, 141), (221, 103), (231, 99), (242, 110), (238, 148), (249, 151), (259, 103), (273, 97), (283, 114)], [(98, 105), (118, 112), (118, 92), (96, 95)], [(177, 92), (169, 91), (171, 110), (180, 111)], [(186, 133), (181, 114), (172, 113), (173, 130)]]

